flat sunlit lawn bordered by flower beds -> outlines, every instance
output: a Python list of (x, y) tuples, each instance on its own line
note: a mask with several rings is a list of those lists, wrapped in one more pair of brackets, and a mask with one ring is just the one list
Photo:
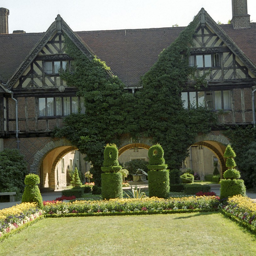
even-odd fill
[(220, 213), (42, 219), (1, 255), (256, 255), (256, 237)]

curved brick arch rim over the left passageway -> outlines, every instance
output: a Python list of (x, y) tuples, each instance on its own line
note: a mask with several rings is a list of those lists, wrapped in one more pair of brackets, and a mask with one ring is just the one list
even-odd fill
[(53, 140), (49, 143), (47, 143), (44, 148), (41, 150), (38, 150), (37, 153), (34, 155), (34, 160), (32, 165), (30, 166), (30, 172), (38, 174), (40, 171), (40, 166), (44, 160), (44, 157), (53, 149), (64, 147), (64, 146), (72, 146), (71, 142), (67, 139), (59, 139), (59, 140)]

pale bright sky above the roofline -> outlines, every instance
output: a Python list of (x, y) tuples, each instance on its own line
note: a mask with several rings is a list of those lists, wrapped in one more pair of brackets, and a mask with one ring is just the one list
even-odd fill
[[(247, 0), (256, 22), (256, 1)], [(187, 26), (203, 7), (216, 22), (232, 18), (231, 0), (0, 0), (9, 33), (45, 32), (58, 14), (73, 31)]]

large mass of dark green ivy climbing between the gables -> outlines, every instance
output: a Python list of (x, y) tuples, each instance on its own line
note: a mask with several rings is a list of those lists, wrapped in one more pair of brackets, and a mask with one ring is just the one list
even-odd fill
[[(85, 160), (93, 165), (93, 177), (100, 184), (103, 149), (107, 143), (119, 145), (122, 134), (131, 137), (152, 137), (165, 151), (169, 168), (179, 168), (187, 156), (187, 148), (198, 133), (210, 130), (213, 113), (204, 109), (184, 109), (181, 92), (195, 68), (189, 67), (188, 56), (197, 20), (186, 27), (179, 37), (159, 55), (158, 61), (142, 77), (143, 89), (135, 96), (124, 90), (124, 84), (111, 75), (105, 62), (96, 57), (89, 60), (68, 39), (67, 54), (76, 64), (73, 74), (62, 79), (78, 88), (84, 97), (85, 114), (71, 114), (63, 127), (55, 129), (55, 137), (67, 137)], [(204, 85), (196, 79), (195, 86)]]

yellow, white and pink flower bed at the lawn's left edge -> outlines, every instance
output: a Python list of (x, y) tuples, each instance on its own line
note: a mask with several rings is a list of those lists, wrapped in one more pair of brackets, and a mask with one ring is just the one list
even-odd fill
[(42, 213), (35, 203), (21, 203), (0, 210), (0, 238), (6, 236), (10, 231), (32, 222), (42, 216)]

